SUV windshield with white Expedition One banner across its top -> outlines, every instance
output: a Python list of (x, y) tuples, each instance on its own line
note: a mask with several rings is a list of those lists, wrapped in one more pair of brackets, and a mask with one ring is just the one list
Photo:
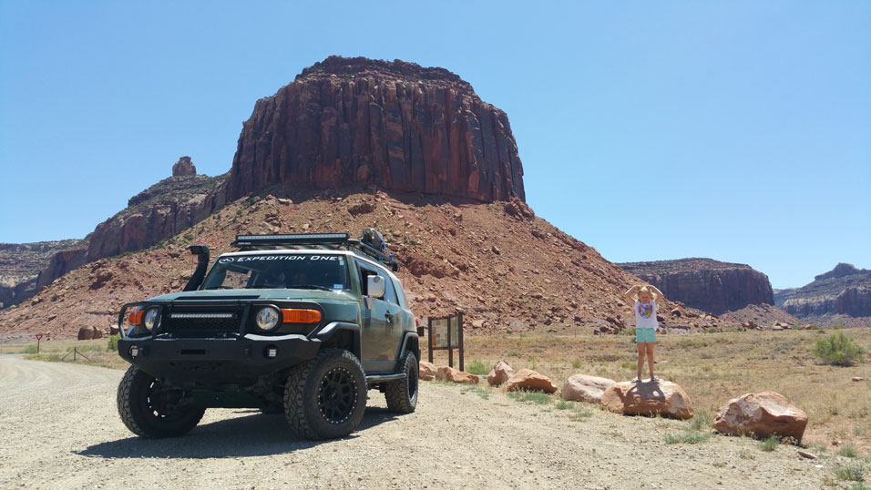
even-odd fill
[(220, 257), (203, 281), (203, 289), (334, 291), (351, 289), (351, 281), (343, 255), (237, 255)]

